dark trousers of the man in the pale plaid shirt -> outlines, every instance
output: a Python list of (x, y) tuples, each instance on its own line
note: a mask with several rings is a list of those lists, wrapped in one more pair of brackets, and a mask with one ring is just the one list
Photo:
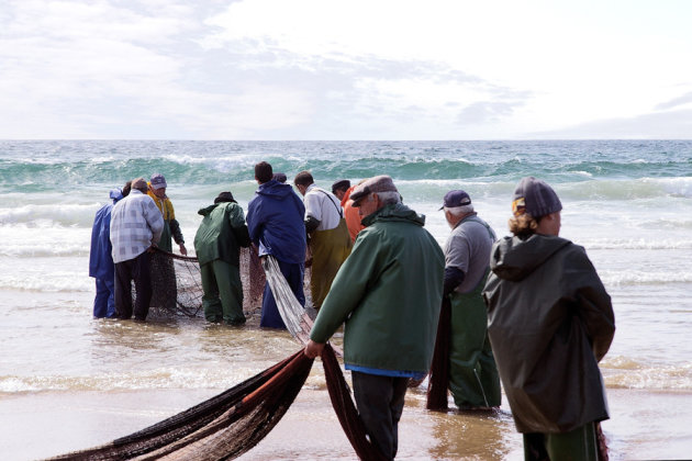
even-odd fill
[(152, 274), (149, 254), (144, 251), (134, 259), (115, 263), (115, 316), (132, 317), (132, 281), (135, 282), (134, 315), (137, 321), (146, 319), (152, 301)]

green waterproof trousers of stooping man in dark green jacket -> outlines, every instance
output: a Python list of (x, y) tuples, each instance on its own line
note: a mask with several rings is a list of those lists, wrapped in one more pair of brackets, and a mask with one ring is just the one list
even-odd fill
[(208, 322), (239, 325), (245, 323), (243, 314), (243, 283), (241, 271), (221, 259), (200, 267), (202, 276), (202, 306)]

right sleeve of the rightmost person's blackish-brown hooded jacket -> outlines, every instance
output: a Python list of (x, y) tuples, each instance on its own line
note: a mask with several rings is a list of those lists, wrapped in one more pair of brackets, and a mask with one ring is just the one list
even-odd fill
[(578, 316), (581, 318), (596, 361), (607, 353), (615, 335), (615, 314), (611, 296), (605, 291), (595, 268), (583, 248), (570, 258), (573, 268), (569, 279), (577, 283), (574, 294)]

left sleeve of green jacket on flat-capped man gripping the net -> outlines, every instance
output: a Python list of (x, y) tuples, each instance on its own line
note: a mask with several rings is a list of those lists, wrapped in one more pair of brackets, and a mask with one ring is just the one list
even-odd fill
[(379, 282), (381, 268), (386, 266), (386, 252), (372, 228), (366, 228), (358, 235), (350, 256), (339, 268), (322, 303), (310, 339), (326, 342), (358, 308), (368, 289)]

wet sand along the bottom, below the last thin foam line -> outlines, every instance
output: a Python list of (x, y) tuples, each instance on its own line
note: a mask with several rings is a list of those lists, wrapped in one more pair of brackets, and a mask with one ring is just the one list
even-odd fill
[[(283, 419), (241, 459), (356, 459), (322, 380), (321, 364), (313, 366), (309, 382)], [(0, 397), (4, 456), (32, 460), (107, 443), (221, 392), (171, 389), (5, 393)], [(603, 431), (611, 460), (689, 457), (692, 414), (687, 408), (692, 392), (615, 389), (607, 390), (607, 396), (611, 419), (603, 421)], [(511, 460), (522, 456), (522, 437), (515, 431), (504, 396), (499, 412), (437, 413), (425, 409), (425, 389), (409, 390), (400, 423), (398, 459)]]

